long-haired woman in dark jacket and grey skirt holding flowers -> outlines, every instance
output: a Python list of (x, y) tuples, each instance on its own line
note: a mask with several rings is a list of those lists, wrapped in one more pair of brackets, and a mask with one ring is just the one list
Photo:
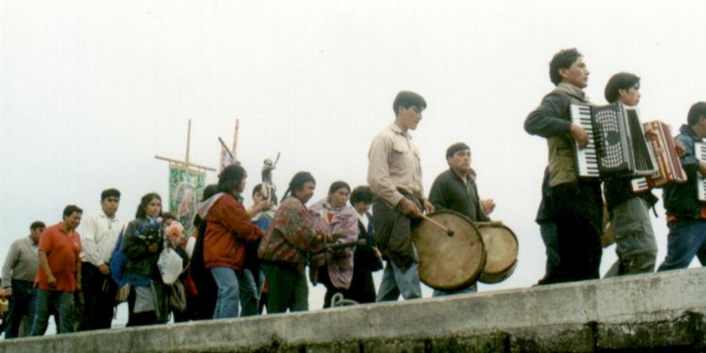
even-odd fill
[(157, 323), (157, 307), (161, 291), (152, 290), (152, 280), (162, 282), (157, 259), (164, 244), (162, 230), (162, 198), (157, 193), (142, 197), (135, 220), (125, 227), (121, 250), (125, 254), (124, 274), (131, 285), (128, 297), (128, 326)]

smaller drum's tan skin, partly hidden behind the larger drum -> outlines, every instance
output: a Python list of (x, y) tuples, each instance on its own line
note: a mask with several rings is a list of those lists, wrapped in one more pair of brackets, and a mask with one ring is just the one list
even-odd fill
[(508, 227), (479, 227), (486, 246), (486, 265), (480, 281), (497, 283), (510, 277), (517, 265), (517, 237)]

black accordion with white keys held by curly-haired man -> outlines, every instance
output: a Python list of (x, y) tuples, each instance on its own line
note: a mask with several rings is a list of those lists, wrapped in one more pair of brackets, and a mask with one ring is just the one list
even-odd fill
[(657, 172), (652, 148), (645, 140), (638, 109), (620, 103), (604, 106), (571, 104), (571, 122), (588, 133), (580, 150), (574, 143), (579, 177), (643, 177)]

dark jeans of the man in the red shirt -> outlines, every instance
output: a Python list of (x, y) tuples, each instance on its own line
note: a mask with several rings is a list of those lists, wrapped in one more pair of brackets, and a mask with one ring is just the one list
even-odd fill
[[(57, 305), (58, 304), (58, 305)], [(35, 318), (32, 321), (30, 335), (41, 336), (47, 332), (49, 313), (52, 306), (59, 307), (59, 333), (72, 333), (73, 325), (73, 293), (55, 292), (37, 289), (35, 301)]]

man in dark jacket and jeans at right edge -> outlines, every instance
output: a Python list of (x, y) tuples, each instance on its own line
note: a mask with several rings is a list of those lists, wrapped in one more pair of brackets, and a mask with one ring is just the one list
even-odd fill
[(664, 188), (669, 235), (666, 258), (658, 271), (687, 268), (698, 252), (706, 251), (706, 205), (699, 200), (697, 186), (706, 175), (706, 162), (696, 159), (694, 146), (706, 137), (706, 102), (691, 106), (687, 122), (675, 140), (686, 151), (680, 160), (688, 181)]

